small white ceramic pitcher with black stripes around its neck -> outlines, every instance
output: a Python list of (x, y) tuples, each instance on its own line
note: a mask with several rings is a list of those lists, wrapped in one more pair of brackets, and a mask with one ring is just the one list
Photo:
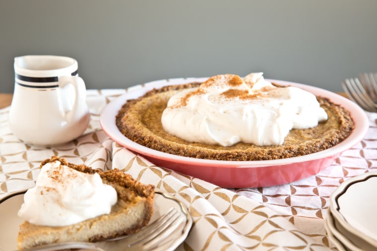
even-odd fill
[(9, 127), (24, 143), (50, 146), (79, 137), (89, 124), (85, 83), (70, 57), (14, 58)]

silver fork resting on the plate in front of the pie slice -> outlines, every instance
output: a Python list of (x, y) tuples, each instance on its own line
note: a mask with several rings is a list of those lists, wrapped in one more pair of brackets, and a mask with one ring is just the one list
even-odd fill
[(179, 213), (176, 208), (172, 207), (166, 214), (160, 216), (139, 232), (129, 236), (122, 236), (101, 243), (69, 242), (49, 244), (31, 248), (26, 251), (56, 251), (69, 249), (105, 251), (104, 248), (109, 248), (109, 246), (111, 246), (112, 250), (114, 246), (118, 247), (119, 250), (146, 251), (153, 249), (157, 244), (164, 241), (186, 220), (185, 216)]

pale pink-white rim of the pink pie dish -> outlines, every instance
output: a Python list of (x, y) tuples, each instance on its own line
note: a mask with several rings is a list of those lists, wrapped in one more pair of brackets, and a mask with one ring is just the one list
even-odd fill
[[(126, 138), (118, 129), (115, 122), (115, 116), (118, 114), (119, 109), (122, 107), (122, 105), (130, 99), (135, 99), (137, 97), (140, 97), (141, 95), (130, 98), (130, 96), (136, 95), (137, 93), (140, 93), (141, 91), (147, 92), (149, 90), (152, 90), (153, 88), (159, 88), (166, 85), (174, 85), (174, 84), (185, 84), (190, 82), (201, 82), (208, 79), (205, 78), (173, 78), (173, 79), (163, 79), (163, 80), (156, 80), (151, 81), (145, 84), (136, 85), (133, 87), (130, 87), (126, 90), (126, 93), (119, 96), (115, 100), (112, 100), (109, 102), (105, 108), (102, 110), (99, 122), (102, 130), (115, 142), (122, 145), (123, 147), (136, 151), (137, 153), (158, 158), (160, 160), (165, 161), (174, 161), (177, 163), (184, 163), (184, 164), (190, 164), (190, 165), (197, 165), (197, 166), (216, 166), (218, 168), (229, 168), (232, 167), (238, 167), (238, 168), (252, 168), (252, 167), (263, 167), (263, 166), (274, 166), (274, 165), (287, 165), (287, 164), (293, 164), (298, 162), (306, 162), (306, 161), (312, 161), (317, 160), (321, 158), (327, 158), (332, 157), (336, 154), (340, 154), (341, 152), (348, 150), (355, 145), (357, 145), (367, 134), (367, 131), (369, 129), (369, 119), (365, 113), (365, 111), (358, 106), (353, 101), (338, 95), (336, 93), (314, 87), (309, 85), (304, 85), (296, 82), (289, 82), (289, 81), (283, 81), (283, 80), (275, 80), (275, 79), (266, 79), (266, 81), (274, 82), (277, 84), (282, 85), (291, 85), (295, 87), (302, 88), (309, 92), (314, 93), (320, 93), (318, 96), (323, 96), (325, 98), (330, 99), (333, 103), (339, 104), (345, 109), (347, 109), (352, 119), (355, 123), (355, 128), (350, 136), (348, 136), (344, 141), (337, 144), (334, 147), (331, 147), (329, 149), (307, 154), (304, 156), (297, 156), (297, 157), (291, 157), (291, 158), (283, 158), (283, 159), (274, 159), (274, 160), (248, 160), (248, 161), (232, 161), (232, 160), (211, 160), (211, 159), (198, 159), (198, 158), (192, 158), (192, 157), (186, 157), (186, 156), (179, 156), (174, 155), (171, 153), (166, 153), (162, 151), (153, 150), (147, 147), (144, 147), (142, 145), (139, 145), (130, 139)], [(141, 92), (142, 93), (142, 92)], [(317, 95), (317, 94), (315, 94)], [(328, 97), (330, 96), (330, 97)], [(352, 137), (351, 137), (352, 136)]]

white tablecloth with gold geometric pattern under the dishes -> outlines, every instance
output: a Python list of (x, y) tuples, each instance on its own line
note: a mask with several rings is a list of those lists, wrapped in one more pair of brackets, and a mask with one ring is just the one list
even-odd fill
[(0, 199), (33, 187), (41, 161), (57, 155), (93, 168), (119, 168), (185, 203), (193, 225), (178, 250), (335, 250), (323, 220), (329, 196), (344, 180), (377, 169), (377, 113), (367, 113), (370, 129), (362, 142), (317, 175), (281, 186), (223, 189), (155, 166), (109, 139), (99, 115), (125, 92), (88, 90), (86, 132), (59, 147), (24, 144), (8, 127), (9, 107), (1, 109)]

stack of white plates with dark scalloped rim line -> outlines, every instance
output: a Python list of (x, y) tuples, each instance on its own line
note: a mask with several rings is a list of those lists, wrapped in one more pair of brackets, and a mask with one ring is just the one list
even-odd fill
[(325, 228), (340, 251), (377, 250), (377, 172), (348, 179), (334, 191)]

